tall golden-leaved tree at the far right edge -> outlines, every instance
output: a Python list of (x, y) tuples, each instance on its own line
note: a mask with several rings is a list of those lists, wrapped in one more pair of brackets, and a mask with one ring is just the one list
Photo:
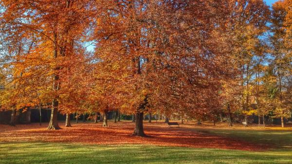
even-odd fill
[[(288, 6), (288, 7), (287, 7)], [(290, 6), (290, 7), (289, 7)], [(270, 36), (271, 54), (276, 88), (274, 96), (275, 116), (281, 118), (284, 127), (284, 118), (290, 117), (291, 101), (287, 91), (291, 88), (292, 57), (291, 57), (291, 0), (278, 1), (273, 5), (272, 25)], [(288, 44), (287, 44), (288, 43)]]

